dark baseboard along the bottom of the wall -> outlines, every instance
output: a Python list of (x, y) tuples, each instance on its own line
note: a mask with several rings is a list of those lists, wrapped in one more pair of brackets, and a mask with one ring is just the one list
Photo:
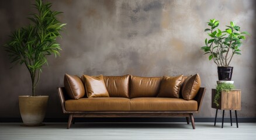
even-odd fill
[[(256, 122), (256, 118), (237, 118), (238, 122)], [(214, 122), (215, 118), (195, 118), (195, 122)], [(236, 122), (235, 118), (232, 119)], [(22, 122), (22, 118), (0, 118), (0, 122)], [(43, 122), (68, 122), (68, 118), (44, 118)], [(75, 118), (75, 122), (186, 122), (186, 118)], [(217, 118), (222, 122), (222, 118)], [(230, 122), (230, 118), (224, 118)]]

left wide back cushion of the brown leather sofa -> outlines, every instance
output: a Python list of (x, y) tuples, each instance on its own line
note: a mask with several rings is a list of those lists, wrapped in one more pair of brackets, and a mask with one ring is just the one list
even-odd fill
[(103, 76), (109, 97), (129, 98), (129, 75)]

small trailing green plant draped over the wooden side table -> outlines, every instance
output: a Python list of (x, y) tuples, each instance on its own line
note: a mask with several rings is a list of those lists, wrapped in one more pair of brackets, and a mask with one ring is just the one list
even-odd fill
[(222, 90), (229, 91), (235, 89), (235, 86), (233, 83), (218, 83), (216, 86), (216, 95), (214, 97), (213, 103), (216, 104), (216, 106), (219, 106), (219, 99), (220, 99), (220, 94), (222, 93)]

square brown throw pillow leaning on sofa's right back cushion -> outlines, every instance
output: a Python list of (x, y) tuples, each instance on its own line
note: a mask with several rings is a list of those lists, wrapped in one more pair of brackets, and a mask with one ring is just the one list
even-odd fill
[(176, 77), (163, 76), (157, 97), (179, 98), (181, 80), (182, 75)]

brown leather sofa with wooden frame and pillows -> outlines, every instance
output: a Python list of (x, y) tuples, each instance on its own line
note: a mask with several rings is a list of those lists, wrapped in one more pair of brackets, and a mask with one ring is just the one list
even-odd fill
[(193, 113), (199, 112), (206, 90), (200, 88), (198, 74), (154, 78), (84, 75), (81, 79), (66, 74), (64, 85), (58, 88), (58, 95), (63, 113), (70, 114), (67, 128), (75, 117), (184, 117), (188, 124), (190, 117), (195, 129)]

